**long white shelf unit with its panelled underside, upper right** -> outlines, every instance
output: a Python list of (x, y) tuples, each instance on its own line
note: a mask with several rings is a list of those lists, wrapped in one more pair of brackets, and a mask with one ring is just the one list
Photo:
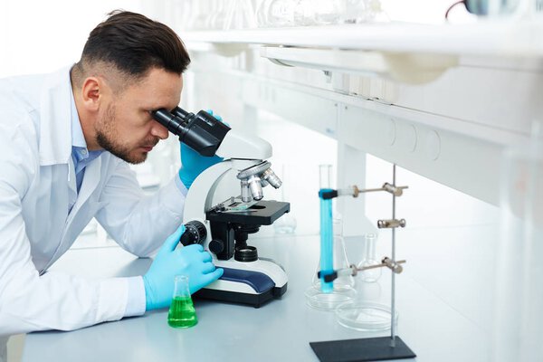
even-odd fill
[(494, 20), (187, 32), (181, 38), (196, 53), (192, 70), (200, 84), (219, 91), (205, 79), (210, 71), (221, 73), (229, 84), (223, 91), (237, 84), (246, 105), (498, 205), (500, 184), (488, 180), (500, 175), (503, 149), (526, 142), (543, 110), (537, 100), (542, 30), (537, 22)]

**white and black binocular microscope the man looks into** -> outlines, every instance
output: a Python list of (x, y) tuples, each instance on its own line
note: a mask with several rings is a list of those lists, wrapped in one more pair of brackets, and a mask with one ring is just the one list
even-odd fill
[(271, 145), (230, 129), (204, 110), (194, 114), (176, 107), (152, 115), (200, 155), (224, 158), (196, 177), (186, 195), (186, 232), (180, 243), (201, 243), (211, 252), (214, 264), (224, 269), (218, 281), (195, 296), (256, 308), (281, 297), (287, 291), (285, 271), (270, 259), (259, 259), (257, 249), (247, 244), (250, 233), (291, 211), (289, 203), (262, 199), (262, 187), (281, 186), (266, 161)]

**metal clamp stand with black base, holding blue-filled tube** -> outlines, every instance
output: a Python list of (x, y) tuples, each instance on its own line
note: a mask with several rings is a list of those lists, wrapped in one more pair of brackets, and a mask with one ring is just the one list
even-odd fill
[[(324, 275), (325, 281), (333, 281), (342, 274), (356, 275), (357, 271), (367, 269), (386, 267), (392, 271), (391, 281), (391, 302), (390, 302), (390, 337), (378, 338), (358, 338), (333, 340), (325, 342), (310, 342), (321, 362), (340, 362), (340, 361), (383, 361), (393, 359), (414, 358), (416, 355), (407, 347), (402, 338), (395, 333), (395, 274), (403, 271), (402, 263), (405, 261), (395, 261), (395, 229), (405, 227), (405, 220), (396, 220), (395, 218), (395, 198), (403, 194), (407, 186), (395, 186), (395, 165), (393, 167), (392, 185), (385, 184), (381, 188), (359, 190), (357, 186), (352, 186), (349, 190), (334, 190), (335, 196), (352, 195), (357, 197), (362, 192), (386, 191), (392, 195), (392, 219), (379, 220), (377, 227), (379, 229), (392, 229), (392, 256), (383, 258), (381, 264), (371, 265), (365, 268), (357, 268), (351, 265), (350, 268), (334, 271), (332, 274)], [(319, 276), (320, 277), (320, 276)]]

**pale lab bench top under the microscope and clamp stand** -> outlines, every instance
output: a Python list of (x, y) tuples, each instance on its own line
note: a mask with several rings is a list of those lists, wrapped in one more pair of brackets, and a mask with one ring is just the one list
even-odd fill
[[(490, 318), (491, 257), (486, 249), (496, 236), (492, 225), (434, 230), (402, 230), (399, 252), (407, 259), (405, 271), (396, 277), (398, 335), (418, 357), (417, 361), (482, 361), (489, 348), (489, 330), (478, 318)], [(470, 246), (476, 263), (455, 260), (450, 254), (428, 255), (429, 243), (452, 240)], [(447, 240), (443, 240), (447, 239)], [(362, 247), (359, 239), (347, 240), (349, 254)], [(260, 309), (211, 300), (196, 300), (198, 324), (192, 329), (172, 329), (167, 310), (138, 318), (102, 323), (71, 332), (30, 333), (23, 361), (317, 361), (309, 342), (379, 336), (346, 329), (333, 312), (313, 310), (305, 303), (319, 253), (319, 236), (257, 238), (260, 255), (281, 262), (289, 276), (289, 287), (281, 300), (271, 300)], [(474, 245), (475, 244), (475, 245)], [(382, 248), (389, 248), (383, 242)], [(489, 258), (487, 260), (486, 258)], [(482, 259), (482, 260), (481, 260)], [(422, 264), (423, 261), (426, 261)], [(462, 268), (456, 268), (462, 263)], [(118, 247), (72, 250), (52, 270), (88, 276), (128, 276), (144, 273), (149, 259), (137, 259)], [(418, 266), (417, 266), (418, 265)], [(424, 270), (419, 273), (418, 271)], [(448, 304), (439, 291), (427, 288), (424, 275), (443, 273), (443, 281), (462, 283), (460, 299), (469, 300), (472, 310)], [(478, 279), (472, 279), (478, 273)], [(389, 272), (378, 283), (357, 280), (358, 298), (389, 299)], [(452, 278), (451, 278), (452, 277)], [(451, 290), (454, 290), (452, 288)], [(386, 335), (381, 333), (382, 335)]]

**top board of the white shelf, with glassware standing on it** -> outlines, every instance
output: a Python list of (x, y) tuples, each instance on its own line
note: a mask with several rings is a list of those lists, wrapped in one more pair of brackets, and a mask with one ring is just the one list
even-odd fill
[(477, 24), (353, 24), (180, 33), (186, 43), (540, 57), (542, 31), (542, 22), (492, 20)]

